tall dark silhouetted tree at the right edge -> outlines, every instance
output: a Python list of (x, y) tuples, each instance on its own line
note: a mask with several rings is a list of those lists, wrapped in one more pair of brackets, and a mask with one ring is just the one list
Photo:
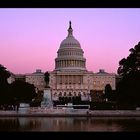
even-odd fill
[(129, 51), (129, 56), (119, 62), (118, 74), (122, 78), (117, 94), (120, 105), (135, 107), (140, 105), (140, 42)]

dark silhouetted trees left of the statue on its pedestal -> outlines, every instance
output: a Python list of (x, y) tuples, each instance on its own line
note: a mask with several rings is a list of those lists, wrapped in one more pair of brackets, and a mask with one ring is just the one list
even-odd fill
[(9, 84), (11, 73), (0, 64), (0, 108), (18, 109), (19, 103), (31, 103), (36, 97), (35, 87), (25, 81), (16, 80)]

